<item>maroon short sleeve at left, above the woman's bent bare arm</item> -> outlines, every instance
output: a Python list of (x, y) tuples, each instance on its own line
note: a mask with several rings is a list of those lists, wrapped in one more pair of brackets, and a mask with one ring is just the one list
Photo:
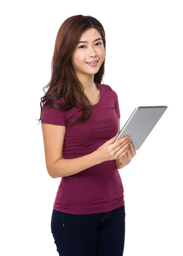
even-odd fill
[(65, 125), (65, 115), (62, 110), (53, 108), (49, 105), (43, 107), (41, 113), (41, 123), (51, 125)]

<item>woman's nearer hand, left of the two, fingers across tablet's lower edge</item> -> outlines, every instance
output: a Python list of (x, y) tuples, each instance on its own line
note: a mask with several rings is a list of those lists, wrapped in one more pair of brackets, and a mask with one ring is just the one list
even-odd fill
[(118, 134), (116, 134), (115, 137), (108, 140), (106, 143), (101, 145), (96, 150), (101, 162), (109, 161), (109, 160), (116, 160), (119, 157), (126, 154), (129, 144), (130, 144), (130, 142), (129, 142), (130, 140), (128, 139), (129, 137), (122, 137), (121, 139), (119, 139), (119, 140), (115, 141), (115, 143), (113, 143), (117, 136), (118, 136)]

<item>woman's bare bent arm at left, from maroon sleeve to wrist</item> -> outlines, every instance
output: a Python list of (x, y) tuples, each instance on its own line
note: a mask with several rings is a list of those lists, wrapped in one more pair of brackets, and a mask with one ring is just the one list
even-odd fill
[(62, 159), (65, 132), (64, 125), (42, 123), (46, 168), (52, 178), (74, 175), (102, 162), (96, 151), (83, 157)]

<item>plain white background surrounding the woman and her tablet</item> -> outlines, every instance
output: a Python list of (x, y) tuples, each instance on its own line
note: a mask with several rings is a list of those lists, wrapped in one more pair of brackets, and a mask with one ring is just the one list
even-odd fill
[[(118, 94), (121, 128), (136, 106), (168, 108), (124, 185), (124, 256), (183, 255), (183, 6), (178, 0), (6, 1), (1, 5), (0, 255), (57, 256), (51, 234), (61, 178), (46, 169), (40, 116), (59, 27), (91, 15), (106, 32), (104, 84)], [(103, 256), (103, 255), (102, 255)]]

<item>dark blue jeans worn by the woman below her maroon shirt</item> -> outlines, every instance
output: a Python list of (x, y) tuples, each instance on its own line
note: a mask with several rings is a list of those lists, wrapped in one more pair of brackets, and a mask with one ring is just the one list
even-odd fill
[(122, 256), (125, 215), (124, 205), (82, 215), (53, 209), (51, 233), (59, 256)]

